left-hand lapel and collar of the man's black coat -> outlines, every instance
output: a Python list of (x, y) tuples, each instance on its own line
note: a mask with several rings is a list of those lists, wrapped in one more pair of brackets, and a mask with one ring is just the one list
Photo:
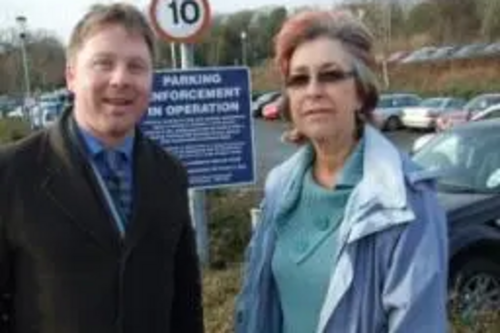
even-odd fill
[(48, 133), (41, 165), (47, 176), (42, 189), (53, 203), (102, 248), (119, 249), (119, 237), (87, 162), (72, 143), (66, 114)]

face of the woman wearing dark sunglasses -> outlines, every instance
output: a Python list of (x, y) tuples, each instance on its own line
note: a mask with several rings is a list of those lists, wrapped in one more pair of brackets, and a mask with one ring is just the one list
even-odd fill
[(300, 44), (290, 59), (286, 91), (292, 121), (311, 141), (353, 134), (362, 103), (352, 57), (341, 42), (319, 37)]

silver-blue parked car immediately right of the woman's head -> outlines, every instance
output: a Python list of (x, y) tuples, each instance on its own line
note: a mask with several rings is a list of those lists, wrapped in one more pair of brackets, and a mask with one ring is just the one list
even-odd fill
[(404, 108), (420, 104), (422, 99), (415, 94), (382, 94), (373, 111), (373, 120), (380, 129), (395, 131), (403, 126), (401, 113)]

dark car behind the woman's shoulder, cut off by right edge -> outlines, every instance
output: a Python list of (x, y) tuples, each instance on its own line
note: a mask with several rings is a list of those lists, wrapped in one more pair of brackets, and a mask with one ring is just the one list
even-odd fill
[(500, 310), (500, 120), (435, 135), (413, 159), (436, 170), (449, 228), (450, 305), (464, 316)]

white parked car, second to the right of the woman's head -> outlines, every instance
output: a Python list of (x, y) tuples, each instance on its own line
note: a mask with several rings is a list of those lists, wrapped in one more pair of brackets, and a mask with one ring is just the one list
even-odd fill
[(449, 111), (465, 105), (465, 100), (454, 97), (427, 98), (418, 106), (403, 109), (402, 122), (408, 128), (434, 129), (436, 119)]

